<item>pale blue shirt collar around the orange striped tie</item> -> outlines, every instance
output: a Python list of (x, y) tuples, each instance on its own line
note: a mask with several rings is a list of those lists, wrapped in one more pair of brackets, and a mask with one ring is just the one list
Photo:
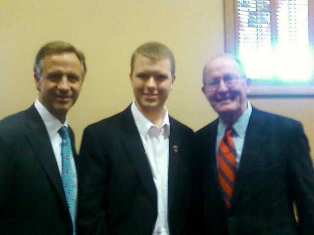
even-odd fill
[[(246, 128), (247, 128), (247, 125), (249, 124), (249, 120), (250, 120), (251, 114), (252, 114), (252, 105), (251, 105), (250, 101), (248, 101), (247, 109), (241, 115), (241, 117), (238, 118), (235, 121), (235, 123), (232, 125), (232, 127), (235, 130), (235, 134), (238, 137), (240, 137), (240, 138), (244, 138), (245, 137)], [(218, 135), (225, 133), (225, 131), (227, 129), (227, 126), (228, 125), (226, 123), (224, 123), (221, 120), (221, 118), (219, 118)]]

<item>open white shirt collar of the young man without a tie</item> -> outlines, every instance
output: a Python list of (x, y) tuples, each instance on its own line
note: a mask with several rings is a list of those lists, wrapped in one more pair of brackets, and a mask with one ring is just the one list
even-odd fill
[[(163, 118), (161, 127), (163, 128), (164, 138), (166, 139), (170, 135), (170, 122), (169, 122), (168, 110), (166, 107), (164, 107), (164, 109), (165, 109), (165, 117)], [(132, 112), (132, 115), (133, 115), (133, 118), (134, 118), (134, 121), (135, 121), (135, 124), (137, 126), (140, 136), (146, 138), (152, 126), (160, 129), (159, 127), (154, 125), (154, 123), (152, 123), (150, 120), (148, 120), (141, 113), (141, 111), (139, 111), (139, 109), (135, 105), (135, 100), (131, 104), (131, 112)]]

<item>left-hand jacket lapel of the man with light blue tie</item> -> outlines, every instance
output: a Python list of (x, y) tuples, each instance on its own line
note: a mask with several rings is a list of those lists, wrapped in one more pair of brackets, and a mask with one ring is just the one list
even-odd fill
[(60, 172), (55, 161), (52, 145), (45, 124), (34, 106), (31, 106), (28, 110), (26, 110), (26, 115), (28, 119), (25, 124), (29, 129), (26, 133), (26, 138), (51, 180), (53, 187), (58, 192), (61, 201), (66, 206), (67, 203), (61, 183)]

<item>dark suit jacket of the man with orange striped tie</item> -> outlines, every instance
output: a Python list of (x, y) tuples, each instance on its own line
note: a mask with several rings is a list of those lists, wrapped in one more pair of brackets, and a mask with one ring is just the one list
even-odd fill
[(230, 210), (217, 180), (217, 126), (218, 119), (196, 132), (198, 152), (204, 158), (207, 234), (313, 235), (314, 172), (301, 123), (253, 108)]

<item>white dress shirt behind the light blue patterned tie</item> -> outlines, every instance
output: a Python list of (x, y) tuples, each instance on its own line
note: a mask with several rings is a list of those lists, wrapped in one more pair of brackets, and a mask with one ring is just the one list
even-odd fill
[[(46, 107), (40, 103), (38, 99), (36, 99), (35, 103), (35, 108), (37, 109), (40, 117), (43, 119), (46, 129), (48, 131), (48, 135), (50, 138), (50, 142), (52, 145), (55, 161), (57, 162), (58, 169), (60, 172), (60, 176), (62, 175), (62, 157), (61, 157), (61, 136), (58, 133), (58, 130), (62, 126), (68, 127), (68, 120), (66, 119), (65, 122), (62, 124), (57, 118), (55, 118), (47, 109)], [(74, 144), (74, 143), (71, 143)], [(72, 145), (73, 146), (73, 145)], [(72, 170), (74, 172), (74, 182), (73, 182), (73, 189), (74, 189), (74, 198), (77, 198), (77, 193), (78, 193), (78, 177), (77, 177), (77, 171), (75, 167), (75, 162), (73, 158), (73, 153), (71, 149), (71, 155), (70, 155), (70, 161), (71, 161), (71, 166)], [(75, 203), (76, 205), (77, 203)], [(76, 208), (74, 210), (74, 213), (76, 214)]]

